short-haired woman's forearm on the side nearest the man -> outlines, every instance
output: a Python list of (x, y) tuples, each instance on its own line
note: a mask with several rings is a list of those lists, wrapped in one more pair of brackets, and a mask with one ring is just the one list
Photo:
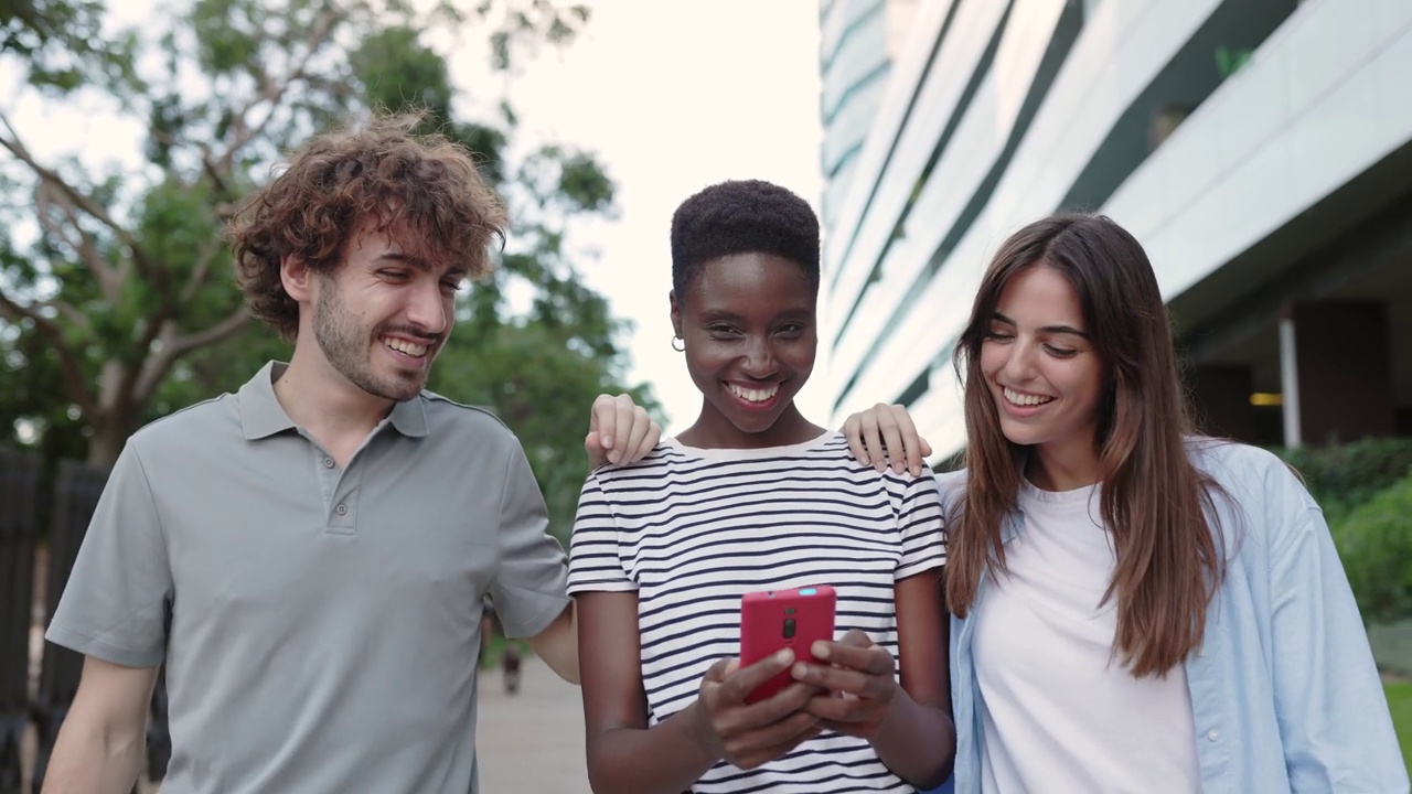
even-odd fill
[(589, 742), (594, 794), (681, 794), (720, 760), (696, 729), (699, 704), (652, 728), (614, 728)]

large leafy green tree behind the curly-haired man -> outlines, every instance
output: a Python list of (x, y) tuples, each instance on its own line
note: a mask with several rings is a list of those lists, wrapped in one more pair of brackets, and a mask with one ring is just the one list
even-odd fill
[[(62, 27), (52, 24), (66, 13), (92, 20), (90, 0), (31, 6), (49, 21), (6, 28), (4, 47), (58, 47), (49, 65), (28, 61), (35, 90), (140, 122), (145, 147), (127, 167), (47, 161), (0, 112), (0, 181), (17, 196), (0, 205), (0, 427), (106, 465), (144, 421), (233, 390), (278, 357), (282, 345), (249, 322), (234, 287), (225, 220), (309, 134), (371, 109), (415, 107), (428, 130), (481, 155), (513, 218), (497, 274), (459, 305), (433, 387), (510, 418), (525, 446), (542, 451), (531, 455), (542, 480), (566, 476), (548, 478), (551, 461), (579, 465), (582, 480), (589, 401), (621, 389), (626, 360), (621, 324), (583, 284), (568, 239), (575, 218), (611, 213), (613, 182), (569, 147), (518, 154), (504, 96), (470, 97), (474, 120), (457, 116), (466, 97), (422, 31), (479, 28), (491, 69), (510, 73), (545, 42), (570, 41), (586, 8), (193, 0), (162, 14), (167, 24), (110, 32), (93, 49), (55, 38)], [(65, 71), (69, 62), (85, 68)], [(528, 305), (511, 301), (520, 294)], [(556, 367), (572, 387), (531, 365)], [(645, 390), (637, 396), (652, 404)]]

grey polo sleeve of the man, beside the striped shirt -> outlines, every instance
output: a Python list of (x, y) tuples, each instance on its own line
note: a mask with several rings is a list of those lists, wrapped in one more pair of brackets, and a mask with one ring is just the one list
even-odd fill
[(496, 615), (511, 637), (538, 634), (569, 606), (563, 547), (548, 528), (539, 483), (515, 442), (500, 496), (500, 565), (490, 582)]

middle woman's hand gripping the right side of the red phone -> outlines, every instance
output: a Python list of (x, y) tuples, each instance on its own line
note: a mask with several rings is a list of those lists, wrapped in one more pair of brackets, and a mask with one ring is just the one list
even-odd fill
[(803, 711), (818, 716), (822, 728), (861, 739), (877, 736), (898, 689), (892, 654), (857, 629), (810, 650), (822, 664), (795, 663), (791, 675), (825, 692)]

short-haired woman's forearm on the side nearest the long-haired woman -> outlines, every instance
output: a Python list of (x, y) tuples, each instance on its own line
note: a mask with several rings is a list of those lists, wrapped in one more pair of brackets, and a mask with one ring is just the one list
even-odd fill
[(892, 774), (918, 788), (945, 783), (956, 762), (956, 725), (950, 713), (918, 704), (901, 688), (871, 743)]

